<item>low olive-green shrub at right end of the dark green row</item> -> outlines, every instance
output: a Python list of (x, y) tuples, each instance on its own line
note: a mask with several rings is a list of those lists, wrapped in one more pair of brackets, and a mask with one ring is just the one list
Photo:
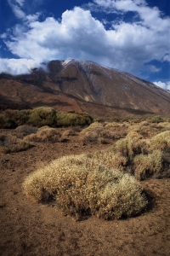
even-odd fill
[(87, 113), (56, 113), (57, 126), (90, 125), (92, 122), (92, 117)]

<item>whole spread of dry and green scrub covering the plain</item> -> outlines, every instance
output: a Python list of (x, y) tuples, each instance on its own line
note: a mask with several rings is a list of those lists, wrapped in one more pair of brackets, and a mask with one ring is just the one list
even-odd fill
[[(53, 200), (62, 212), (78, 219), (137, 214), (147, 206), (139, 181), (170, 177), (170, 119), (153, 116), (93, 123), (87, 113), (35, 108), (6, 110), (0, 120), (1, 128), (15, 128), (10, 135), (1, 131), (3, 153), (26, 150), (36, 143), (65, 143), (72, 136), (83, 144), (108, 144), (105, 150), (54, 160), (26, 177), (24, 189), (31, 200)], [(59, 131), (61, 126), (71, 127)]]

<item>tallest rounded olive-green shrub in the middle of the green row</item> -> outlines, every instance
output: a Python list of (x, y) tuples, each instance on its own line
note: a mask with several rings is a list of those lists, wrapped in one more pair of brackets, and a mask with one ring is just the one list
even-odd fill
[(34, 108), (31, 110), (27, 123), (37, 127), (41, 127), (43, 125), (52, 126), (55, 125), (55, 116), (56, 111), (54, 108)]

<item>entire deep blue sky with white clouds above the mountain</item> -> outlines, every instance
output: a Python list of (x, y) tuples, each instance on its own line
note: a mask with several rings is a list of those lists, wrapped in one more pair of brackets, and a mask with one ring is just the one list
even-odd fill
[(67, 58), (170, 90), (170, 1), (0, 0), (0, 73)]

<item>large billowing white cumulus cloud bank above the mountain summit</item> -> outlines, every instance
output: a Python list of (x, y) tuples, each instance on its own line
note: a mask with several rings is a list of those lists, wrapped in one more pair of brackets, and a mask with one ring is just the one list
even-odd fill
[[(15, 0), (13, 8), (21, 10), (23, 3), (24, 0)], [(170, 18), (163, 17), (159, 9), (150, 8), (144, 0), (94, 0), (88, 7), (66, 10), (60, 20), (48, 17), (41, 22), (38, 21), (39, 13), (24, 13), (23, 17), (20, 13), (18, 17), (23, 19), (24, 25), (15, 26), (13, 33), (10, 30), (1, 38), (14, 55), (22, 61), (31, 59), (32, 63), (71, 57), (96, 61), (138, 76), (142, 71), (160, 71), (150, 65), (152, 60), (170, 61)], [(131, 23), (111, 20), (110, 29), (106, 29), (107, 20), (100, 21), (92, 16), (90, 10), (94, 7), (112, 13), (132, 11), (139, 19)], [(2, 70), (4, 72), (4, 65), (0, 73)]]

